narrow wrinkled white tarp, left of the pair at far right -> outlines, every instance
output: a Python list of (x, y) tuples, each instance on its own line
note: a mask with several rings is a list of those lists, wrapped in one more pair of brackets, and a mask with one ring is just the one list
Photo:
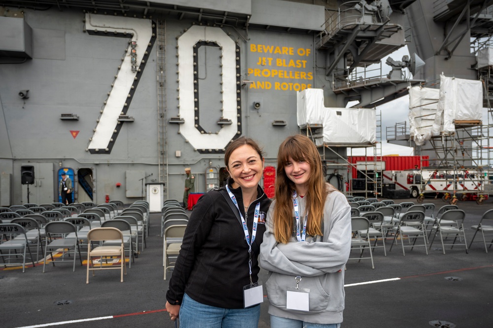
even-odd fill
[(411, 136), (418, 146), (423, 146), (433, 135), (432, 124), (435, 120), (440, 89), (414, 86), (409, 88), (409, 125)]

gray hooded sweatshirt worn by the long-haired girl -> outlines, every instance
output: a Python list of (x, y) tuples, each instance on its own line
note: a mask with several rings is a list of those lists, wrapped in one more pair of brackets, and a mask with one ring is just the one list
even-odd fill
[[(297, 198), (302, 214), (301, 232), (306, 217), (306, 198)], [(260, 266), (270, 271), (264, 284), (270, 302), (269, 314), (315, 324), (341, 323), (345, 296), (344, 265), (351, 250), (351, 207), (346, 197), (339, 191), (327, 195), (323, 236), (307, 235), (305, 241), (298, 242), (293, 232), (287, 244), (278, 243), (274, 237), (272, 213), (275, 204), (274, 200), (267, 213), (259, 257)], [(296, 222), (294, 210), (293, 222)], [(309, 290), (308, 312), (286, 309), (286, 292), (296, 288), (296, 276), (302, 277), (299, 288)]]

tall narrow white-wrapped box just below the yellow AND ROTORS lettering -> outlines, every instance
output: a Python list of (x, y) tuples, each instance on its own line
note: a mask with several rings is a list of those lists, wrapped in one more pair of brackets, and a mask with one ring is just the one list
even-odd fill
[(296, 92), (296, 97), (298, 126), (322, 124), (323, 90), (305, 89)]

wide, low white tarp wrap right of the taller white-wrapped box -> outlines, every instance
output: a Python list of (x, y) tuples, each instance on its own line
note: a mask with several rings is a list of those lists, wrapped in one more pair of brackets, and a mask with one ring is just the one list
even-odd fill
[(325, 108), (323, 111), (325, 144), (375, 144), (376, 113), (367, 108)]

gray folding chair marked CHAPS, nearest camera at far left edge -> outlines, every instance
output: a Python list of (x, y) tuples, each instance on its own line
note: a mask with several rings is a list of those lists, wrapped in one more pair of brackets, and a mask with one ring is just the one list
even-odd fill
[[(0, 257), (3, 260), (4, 267), (7, 267), (7, 261), (8, 264), (22, 264), (22, 272), (25, 272), (26, 250), (29, 251), (31, 261), (33, 262), (33, 266), (35, 266), (33, 254), (31, 253), (29, 241), (26, 236), (26, 230), (22, 225), (17, 223), (0, 223), (0, 235), (3, 235), (2, 240), (0, 240)], [(6, 241), (3, 241), (3, 238), (5, 238)], [(21, 253), (17, 253), (18, 250), (20, 250)], [(8, 252), (4, 254), (3, 251)], [(14, 251), (15, 253), (12, 254), (11, 251)], [(22, 262), (11, 262), (14, 258), (17, 260), (18, 256), (22, 257)]]

